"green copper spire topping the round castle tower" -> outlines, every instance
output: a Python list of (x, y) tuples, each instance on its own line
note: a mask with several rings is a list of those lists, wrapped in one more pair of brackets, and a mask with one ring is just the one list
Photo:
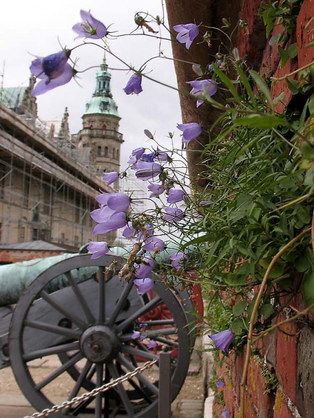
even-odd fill
[(111, 74), (108, 72), (108, 65), (106, 63), (106, 56), (101, 63), (100, 71), (96, 74), (96, 89), (93, 97), (86, 103), (86, 111), (84, 114), (112, 114), (119, 116), (118, 106), (110, 89)]

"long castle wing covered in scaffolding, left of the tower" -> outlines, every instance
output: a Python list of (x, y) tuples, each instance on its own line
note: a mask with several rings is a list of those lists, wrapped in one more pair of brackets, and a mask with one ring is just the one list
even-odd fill
[[(102, 172), (86, 150), (51, 138), (51, 125), (35, 114), (21, 114), (16, 95), (8, 104), (7, 94), (7, 106), (0, 103), (0, 243), (41, 239), (78, 248), (95, 241), (89, 216), (95, 196), (99, 188), (113, 191), (101, 182)], [(109, 243), (114, 238), (98, 236)]]

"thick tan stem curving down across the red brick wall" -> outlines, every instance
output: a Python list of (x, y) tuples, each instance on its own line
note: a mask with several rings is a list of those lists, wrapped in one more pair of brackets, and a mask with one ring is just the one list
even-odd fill
[(295, 236), (295, 238), (293, 238), (291, 241), (289, 241), (289, 243), (287, 243), (287, 245), (285, 245), (285, 247), (282, 247), (282, 249), (280, 249), (280, 251), (278, 251), (276, 256), (274, 256), (274, 258), (271, 260), (271, 262), (270, 262), (270, 264), (267, 268), (267, 271), (266, 271), (266, 273), (263, 277), (263, 281), (261, 282), (261, 286), (258, 290), (258, 294), (257, 294), (257, 297), (256, 297), (256, 302), (254, 304), (254, 309), (253, 309), (253, 312), (252, 312), (252, 316), (250, 318), (249, 332), (247, 334), (245, 362), (244, 362), (244, 366), (243, 366), (243, 373), (242, 373), (242, 378), (241, 378), (241, 383), (240, 383), (240, 415), (239, 415), (239, 418), (244, 418), (245, 386), (246, 386), (246, 381), (247, 381), (247, 370), (248, 370), (249, 362), (250, 362), (250, 354), (251, 354), (251, 349), (252, 349), (252, 335), (253, 335), (253, 330), (254, 330), (254, 323), (255, 323), (255, 318), (256, 318), (256, 315), (257, 315), (259, 305), (261, 303), (264, 288), (265, 288), (265, 286), (267, 284), (267, 280), (269, 278), (269, 274), (270, 274), (271, 270), (273, 269), (274, 265), (276, 264), (277, 260), (282, 256), (282, 254), (284, 254), (285, 251), (287, 251), (287, 249), (289, 249), (294, 243), (299, 241), (300, 238), (302, 238), (302, 236), (308, 234), (309, 232), (311, 232), (311, 228), (308, 228), (307, 230), (304, 230), (303, 232), (301, 232), (301, 234), (299, 234), (298, 236)]

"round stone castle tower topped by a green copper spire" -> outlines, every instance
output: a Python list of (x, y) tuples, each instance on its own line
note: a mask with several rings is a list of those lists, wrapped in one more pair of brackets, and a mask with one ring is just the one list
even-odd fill
[(120, 116), (110, 90), (111, 74), (108, 72), (106, 57), (96, 75), (96, 89), (86, 103), (82, 116), (83, 129), (77, 134), (78, 147), (89, 149), (90, 162), (103, 171), (120, 170), (120, 148), (123, 143), (119, 133)]

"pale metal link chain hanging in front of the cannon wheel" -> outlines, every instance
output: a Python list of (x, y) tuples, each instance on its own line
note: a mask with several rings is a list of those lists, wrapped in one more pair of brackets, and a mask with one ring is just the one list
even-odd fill
[(47, 417), (48, 415), (52, 413), (56, 413), (61, 409), (68, 408), (69, 406), (72, 406), (73, 404), (76, 404), (77, 402), (84, 401), (86, 399), (89, 399), (90, 397), (95, 397), (99, 393), (106, 392), (108, 389), (113, 388), (114, 386), (117, 386), (119, 383), (125, 382), (126, 380), (129, 380), (130, 378), (134, 378), (138, 373), (141, 373), (145, 369), (149, 369), (149, 367), (152, 367), (157, 362), (157, 360), (147, 361), (145, 364), (141, 367), (136, 367), (133, 371), (129, 371), (129, 373), (126, 373), (124, 376), (120, 376), (116, 380), (112, 380), (112, 382), (103, 384), (99, 388), (93, 389), (91, 392), (83, 393), (83, 395), (73, 397), (70, 401), (64, 401), (60, 405), (54, 405), (50, 409), (44, 409), (40, 413), (34, 413), (33, 415), (27, 415), (23, 418), (40, 418), (40, 417)]

